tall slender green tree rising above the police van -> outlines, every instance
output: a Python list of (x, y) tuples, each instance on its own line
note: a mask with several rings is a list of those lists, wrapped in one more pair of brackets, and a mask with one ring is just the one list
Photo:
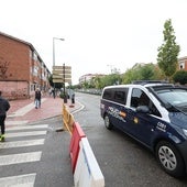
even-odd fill
[(164, 43), (158, 47), (157, 63), (160, 68), (169, 79), (170, 76), (176, 72), (177, 68), (177, 57), (180, 51), (179, 45), (176, 44), (175, 32), (172, 25), (172, 20), (166, 20), (164, 23)]

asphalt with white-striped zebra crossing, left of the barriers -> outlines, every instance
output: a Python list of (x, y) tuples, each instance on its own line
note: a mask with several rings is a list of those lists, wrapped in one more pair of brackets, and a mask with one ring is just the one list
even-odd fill
[(62, 117), (7, 129), (0, 143), (0, 187), (74, 187), (70, 135)]

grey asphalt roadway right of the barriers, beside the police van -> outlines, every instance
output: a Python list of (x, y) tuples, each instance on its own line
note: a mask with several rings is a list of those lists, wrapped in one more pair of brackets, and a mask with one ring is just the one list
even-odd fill
[(85, 108), (75, 113), (105, 176), (106, 187), (186, 187), (162, 170), (154, 155), (127, 134), (105, 128), (100, 117), (100, 96), (76, 94)]

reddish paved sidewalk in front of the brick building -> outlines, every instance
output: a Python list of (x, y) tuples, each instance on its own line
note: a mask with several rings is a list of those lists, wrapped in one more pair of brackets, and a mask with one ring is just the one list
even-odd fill
[[(6, 123), (32, 123), (40, 120), (62, 116), (64, 100), (59, 97), (43, 97), (41, 108), (35, 109), (33, 99), (10, 101), (10, 110), (7, 113)], [(73, 106), (70, 100), (66, 103), (69, 112), (78, 110), (80, 105), (75, 102)]]

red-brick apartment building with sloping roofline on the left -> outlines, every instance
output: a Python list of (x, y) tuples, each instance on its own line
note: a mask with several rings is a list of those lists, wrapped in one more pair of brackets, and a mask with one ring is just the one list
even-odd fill
[(8, 99), (30, 98), (50, 88), (51, 73), (31, 43), (0, 32), (0, 90)]

